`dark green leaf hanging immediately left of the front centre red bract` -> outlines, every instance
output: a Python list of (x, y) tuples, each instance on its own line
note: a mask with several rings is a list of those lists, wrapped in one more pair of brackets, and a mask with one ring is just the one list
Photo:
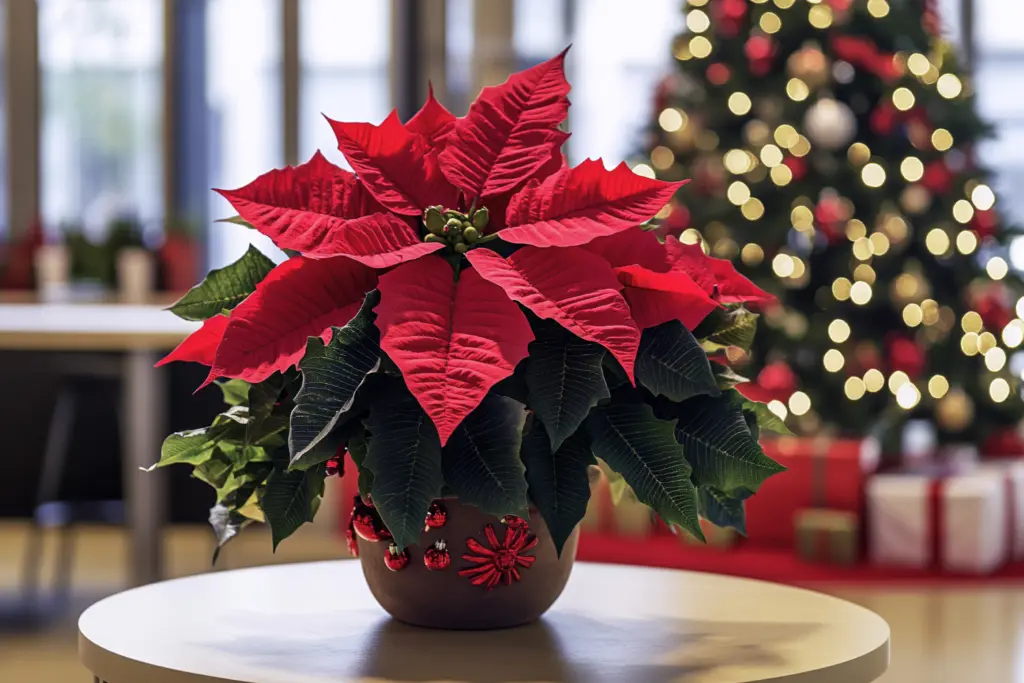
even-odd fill
[(380, 292), (367, 295), (359, 312), (343, 328), (335, 328), (330, 344), (311, 337), (299, 362), (302, 388), (295, 396), (289, 450), (300, 460), (326, 437), (351, 410), (355, 394), (370, 373), (380, 367), (380, 333), (374, 307)]

